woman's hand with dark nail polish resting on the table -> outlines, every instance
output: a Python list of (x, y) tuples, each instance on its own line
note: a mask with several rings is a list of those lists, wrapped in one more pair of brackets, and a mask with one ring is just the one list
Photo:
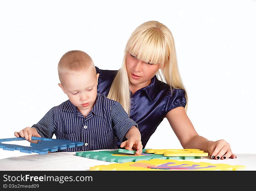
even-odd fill
[(211, 159), (235, 159), (237, 155), (232, 153), (230, 144), (221, 139), (218, 141), (210, 141), (208, 144), (208, 151), (211, 155)]

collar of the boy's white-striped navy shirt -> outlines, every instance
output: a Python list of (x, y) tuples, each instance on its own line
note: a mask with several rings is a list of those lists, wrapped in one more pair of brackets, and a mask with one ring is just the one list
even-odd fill
[[(95, 100), (95, 104), (93, 105), (93, 109), (92, 109), (93, 114), (103, 117), (102, 103), (103, 103), (103, 98), (102, 96), (100, 96), (99, 93), (97, 93), (97, 98)], [(62, 110), (67, 112), (76, 112), (77, 108), (75, 105), (73, 105), (73, 103), (71, 103), (70, 100), (67, 100), (64, 103)]]

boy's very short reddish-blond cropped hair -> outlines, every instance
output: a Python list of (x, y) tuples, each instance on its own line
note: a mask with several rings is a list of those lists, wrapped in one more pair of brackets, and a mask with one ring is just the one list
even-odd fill
[(92, 58), (81, 50), (70, 50), (66, 52), (58, 63), (59, 79), (63, 81), (63, 74), (93, 70), (96, 76), (96, 69)]

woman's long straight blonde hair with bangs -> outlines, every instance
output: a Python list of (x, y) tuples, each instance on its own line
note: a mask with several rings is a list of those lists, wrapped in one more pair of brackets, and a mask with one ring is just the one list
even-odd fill
[[(126, 53), (142, 61), (161, 64), (165, 67), (157, 72), (157, 78), (173, 88), (185, 90), (179, 73), (177, 55), (173, 35), (170, 30), (158, 21), (147, 21), (138, 26), (131, 34), (125, 47), (125, 56), (122, 66), (111, 85), (108, 98), (120, 102), (125, 111), (130, 113), (129, 78), (126, 69)], [(171, 91), (172, 92), (172, 91)], [(188, 97), (185, 90), (187, 104)]]

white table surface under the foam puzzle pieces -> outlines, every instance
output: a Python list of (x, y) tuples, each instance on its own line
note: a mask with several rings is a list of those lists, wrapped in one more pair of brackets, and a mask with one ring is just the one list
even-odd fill
[[(90, 167), (95, 165), (115, 163), (79, 157), (75, 154), (76, 152), (56, 152), (9, 157), (0, 159), (0, 170), (90, 170)], [(189, 161), (244, 165), (244, 170), (256, 170), (256, 154), (237, 154), (237, 159), (213, 160), (208, 156)]]

